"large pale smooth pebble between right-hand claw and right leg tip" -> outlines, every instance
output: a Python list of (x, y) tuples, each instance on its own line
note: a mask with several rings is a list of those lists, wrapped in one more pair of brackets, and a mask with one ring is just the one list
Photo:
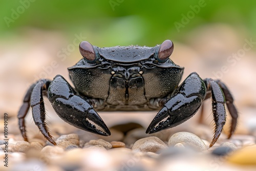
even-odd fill
[(172, 137), (170, 137), (168, 141), (169, 146), (174, 146), (177, 143), (182, 143), (184, 146), (193, 146), (199, 149), (200, 151), (207, 150), (207, 147), (204, 144), (204, 142), (198, 136), (189, 132), (178, 132), (175, 133)]

